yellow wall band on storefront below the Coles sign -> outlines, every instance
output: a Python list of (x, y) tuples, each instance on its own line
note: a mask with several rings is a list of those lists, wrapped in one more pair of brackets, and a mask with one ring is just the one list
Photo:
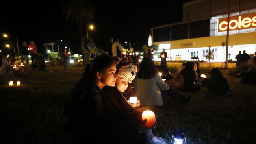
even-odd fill
[[(194, 42), (194, 48), (202, 48), (208, 46), (221, 46), (221, 42), (226, 42), (226, 35), (215, 37), (200, 37), (194, 39), (182, 39), (176, 41), (154, 42), (153, 44), (171, 44), (171, 49), (181, 48), (181, 43)], [(256, 44), (256, 32), (239, 33), (229, 35), (229, 45)]]

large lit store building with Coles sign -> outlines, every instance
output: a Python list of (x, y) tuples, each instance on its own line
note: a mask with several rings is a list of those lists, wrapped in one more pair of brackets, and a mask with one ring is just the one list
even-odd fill
[[(228, 8), (229, 3), (229, 8)], [(151, 28), (148, 44), (165, 48), (167, 60), (225, 61), (229, 17), (228, 54), (256, 52), (256, 0), (194, 0), (183, 4), (183, 21)]]

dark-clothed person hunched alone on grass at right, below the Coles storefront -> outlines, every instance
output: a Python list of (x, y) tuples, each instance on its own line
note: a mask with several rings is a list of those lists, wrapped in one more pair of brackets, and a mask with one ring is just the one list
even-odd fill
[(207, 89), (210, 94), (228, 96), (234, 93), (233, 89), (230, 89), (226, 78), (222, 76), (217, 68), (211, 70), (211, 78), (208, 81)]

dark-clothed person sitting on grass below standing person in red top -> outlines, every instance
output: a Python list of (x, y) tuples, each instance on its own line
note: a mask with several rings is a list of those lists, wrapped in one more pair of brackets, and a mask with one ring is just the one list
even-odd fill
[(53, 72), (50, 68), (46, 67), (45, 58), (41, 55), (37, 55), (37, 57), (33, 61), (33, 65), (36, 66), (35, 71)]

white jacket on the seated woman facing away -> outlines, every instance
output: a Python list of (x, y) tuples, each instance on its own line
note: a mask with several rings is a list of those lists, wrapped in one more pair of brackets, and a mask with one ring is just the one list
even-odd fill
[(159, 72), (152, 79), (136, 79), (134, 84), (135, 96), (141, 101), (142, 105), (163, 105), (160, 89), (168, 90), (169, 85), (162, 80)]

